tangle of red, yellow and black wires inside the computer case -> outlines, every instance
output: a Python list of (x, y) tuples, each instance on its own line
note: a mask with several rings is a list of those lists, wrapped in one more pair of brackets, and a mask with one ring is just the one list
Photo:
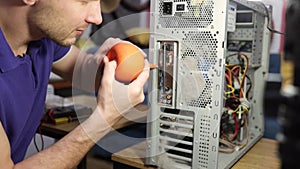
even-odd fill
[[(229, 63), (230, 57), (236, 57), (236, 63)], [(251, 80), (247, 76), (249, 58), (237, 53), (227, 56), (225, 68), (224, 112), (221, 120), (219, 151), (232, 153), (248, 144), (248, 102)], [(245, 129), (245, 130), (244, 130)], [(244, 136), (245, 135), (245, 138)]]

